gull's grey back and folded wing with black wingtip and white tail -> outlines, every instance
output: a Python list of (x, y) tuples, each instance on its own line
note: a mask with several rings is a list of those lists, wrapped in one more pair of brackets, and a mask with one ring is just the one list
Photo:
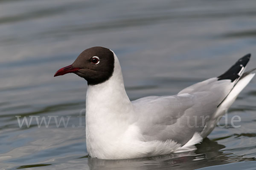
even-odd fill
[(250, 55), (245, 55), (223, 75), (193, 84), (177, 95), (132, 101), (145, 140), (172, 139), (186, 144), (196, 132), (206, 137), (216, 126), (218, 116), (253, 78), (250, 72), (243, 74), (249, 59)]

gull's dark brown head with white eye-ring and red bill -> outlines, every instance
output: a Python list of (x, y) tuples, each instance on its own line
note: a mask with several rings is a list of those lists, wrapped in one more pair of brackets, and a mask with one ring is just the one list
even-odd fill
[(84, 50), (70, 66), (59, 69), (54, 77), (75, 73), (87, 80), (88, 85), (107, 81), (114, 71), (114, 54), (110, 49), (95, 46)]

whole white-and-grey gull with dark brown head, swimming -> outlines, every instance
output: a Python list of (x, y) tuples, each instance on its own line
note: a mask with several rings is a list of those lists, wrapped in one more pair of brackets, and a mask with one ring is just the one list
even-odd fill
[(90, 157), (143, 158), (195, 150), (255, 75), (256, 69), (244, 72), (250, 56), (177, 95), (134, 101), (125, 91), (116, 54), (105, 47), (84, 50), (54, 77), (75, 73), (87, 81), (85, 129)]

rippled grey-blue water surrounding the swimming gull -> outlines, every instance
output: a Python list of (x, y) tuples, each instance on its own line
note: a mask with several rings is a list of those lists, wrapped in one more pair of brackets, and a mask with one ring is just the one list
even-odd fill
[[(176, 94), (249, 52), (254, 68), (255, 9), (254, 0), (1, 0), (0, 169), (255, 169), (255, 78), (227, 115), (241, 127), (216, 127), (195, 152), (130, 160), (87, 158), (86, 81), (53, 78), (92, 46), (116, 52), (132, 100)], [(34, 117), (20, 128), (15, 116)], [(61, 116), (67, 127), (55, 124)], [(43, 117), (49, 127), (38, 128)]]

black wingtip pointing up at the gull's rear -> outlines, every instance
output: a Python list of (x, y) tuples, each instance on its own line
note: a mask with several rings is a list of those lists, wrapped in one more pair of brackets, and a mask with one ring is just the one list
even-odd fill
[(239, 72), (241, 69), (247, 65), (250, 60), (251, 54), (244, 55), (244, 57), (240, 58), (230, 69), (227, 70), (224, 74), (218, 76), (218, 80), (225, 80), (229, 79), (232, 82), (235, 81), (237, 78), (240, 77)]

